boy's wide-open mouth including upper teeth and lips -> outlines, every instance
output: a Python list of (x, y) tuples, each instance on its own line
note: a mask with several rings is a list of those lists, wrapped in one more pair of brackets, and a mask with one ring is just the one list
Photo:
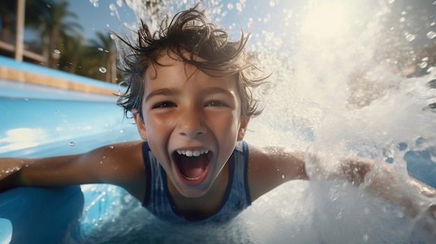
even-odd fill
[(209, 172), (212, 152), (209, 150), (177, 150), (173, 152), (178, 172), (188, 184), (198, 184)]

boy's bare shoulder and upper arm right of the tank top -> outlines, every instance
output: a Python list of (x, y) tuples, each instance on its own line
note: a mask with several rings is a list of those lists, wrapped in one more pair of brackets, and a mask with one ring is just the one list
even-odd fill
[(286, 181), (307, 178), (302, 151), (249, 145), (248, 179), (252, 201)]

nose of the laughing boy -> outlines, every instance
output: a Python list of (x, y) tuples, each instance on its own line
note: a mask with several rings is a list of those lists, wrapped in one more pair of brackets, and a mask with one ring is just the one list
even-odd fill
[(184, 110), (180, 113), (178, 121), (178, 134), (195, 138), (206, 133), (203, 115), (195, 109)]

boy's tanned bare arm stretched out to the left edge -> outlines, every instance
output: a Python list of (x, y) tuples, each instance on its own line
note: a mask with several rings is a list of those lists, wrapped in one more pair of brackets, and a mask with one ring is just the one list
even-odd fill
[(0, 158), (0, 191), (18, 186), (107, 183), (141, 197), (145, 182), (141, 142), (117, 143), (85, 154)]

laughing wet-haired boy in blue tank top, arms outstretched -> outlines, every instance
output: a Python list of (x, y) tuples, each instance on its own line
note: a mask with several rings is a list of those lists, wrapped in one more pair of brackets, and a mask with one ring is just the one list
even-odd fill
[[(229, 42), (226, 31), (194, 9), (179, 13), (157, 33), (143, 24), (123, 68), (127, 92), (118, 104), (132, 111), (143, 140), (49, 158), (0, 158), (10, 173), (0, 190), (16, 186), (107, 183), (125, 188), (157, 217), (172, 222), (226, 221), (269, 190), (309, 179), (302, 152), (259, 149), (243, 141), (250, 117), (261, 110), (251, 89), (264, 81), (244, 51), (247, 37)], [(121, 39), (121, 38), (120, 38)], [(122, 39), (121, 39), (122, 40)], [(124, 51), (121, 49), (120, 51)], [(100, 163), (102, 162), (102, 163)], [(373, 173), (371, 161), (343, 160), (336, 179), (365, 182), (368, 190), (420, 209), (412, 196)], [(410, 179), (427, 197), (436, 191)], [(430, 211), (434, 207), (428, 206)]]

